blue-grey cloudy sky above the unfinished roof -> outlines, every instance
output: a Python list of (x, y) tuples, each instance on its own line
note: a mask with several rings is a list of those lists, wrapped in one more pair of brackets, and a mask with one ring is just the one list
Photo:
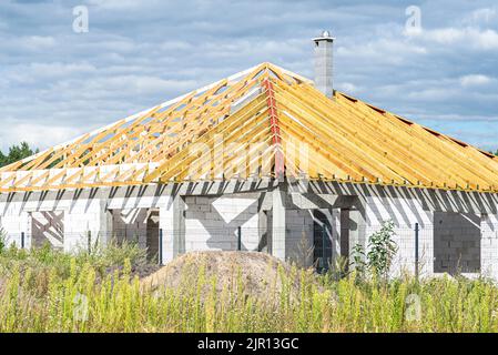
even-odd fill
[(0, 149), (44, 149), (264, 61), (313, 78), (322, 29), (337, 89), (498, 149), (496, 0), (1, 0)]

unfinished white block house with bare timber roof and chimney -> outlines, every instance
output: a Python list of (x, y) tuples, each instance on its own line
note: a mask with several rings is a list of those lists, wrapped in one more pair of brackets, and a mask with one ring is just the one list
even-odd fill
[(333, 90), (333, 42), (314, 82), (263, 63), (1, 169), (10, 243), (325, 265), (392, 220), (394, 273), (498, 278), (498, 158)]

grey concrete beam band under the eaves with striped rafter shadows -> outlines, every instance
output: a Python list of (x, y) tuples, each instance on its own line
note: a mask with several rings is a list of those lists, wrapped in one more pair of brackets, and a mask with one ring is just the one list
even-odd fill
[(278, 184), (289, 193), (311, 193), (317, 195), (386, 196), (388, 199), (418, 200), (426, 211), (461, 213), (498, 213), (498, 194), (431, 189), (410, 189), (405, 186), (383, 186), (370, 184), (338, 183), (286, 179), (284, 183), (272, 179), (248, 179), (212, 182), (186, 182), (149, 184), (120, 187), (94, 187), (81, 190), (18, 192), (0, 194), (0, 203), (7, 211), (12, 203), (21, 203), (26, 211), (37, 211), (47, 206), (63, 209), (62, 202), (105, 199), (110, 203), (120, 199), (134, 199), (135, 207), (156, 207), (169, 195), (222, 195), (245, 192), (271, 191)]

